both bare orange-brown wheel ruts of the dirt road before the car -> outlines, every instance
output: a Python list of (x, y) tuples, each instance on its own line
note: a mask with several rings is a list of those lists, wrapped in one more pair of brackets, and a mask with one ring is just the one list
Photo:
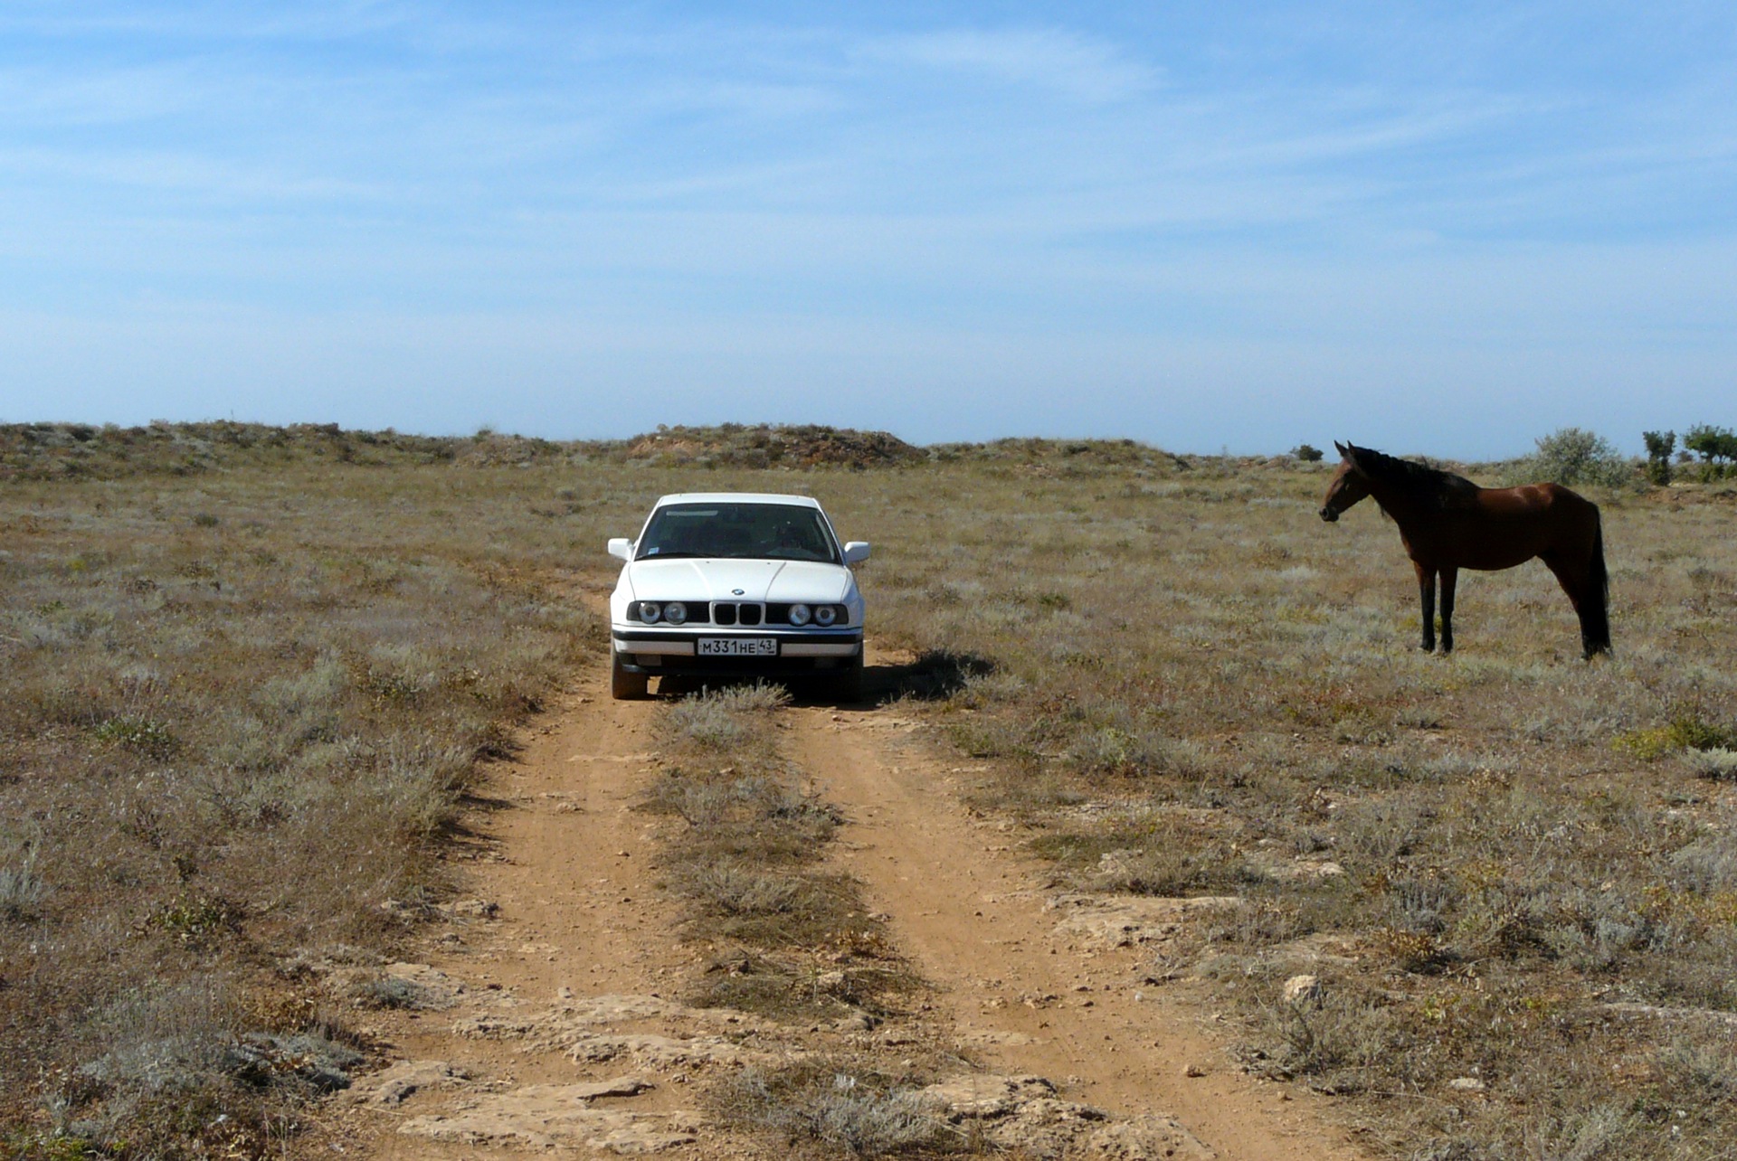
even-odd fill
[[(677, 941), (674, 906), (648, 869), (651, 819), (632, 809), (651, 772), (653, 713), (653, 703), (610, 701), (599, 668), (495, 771), (497, 809), (478, 819), (469, 866), (474, 897), (452, 908), (422, 963), (370, 968), (406, 998), (363, 1020), (398, 1064), (346, 1093), (309, 1152), (757, 1156), (754, 1142), (709, 1125), (698, 1081), (862, 1036), (679, 1001), (700, 953)], [(783, 715), (789, 755), (848, 817), (839, 866), (933, 986), (912, 1013), (921, 1027), (900, 1036), (959, 1045), (983, 1092), (1039, 1076), (1053, 1085), (1049, 1105), (1181, 1126), (1160, 1135), (1164, 1151), (1103, 1130), (1070, 1156), (1364, 1156), (1324, 1123), (1317, 1099), (1237, 1071), (1186, 984), (1153, 982), (1153, 951), (1139, 941), (1162, 941), (1188, 906), (1046, 890), (1016, 840), (961, 805), (973, 771), (895, 710)]]

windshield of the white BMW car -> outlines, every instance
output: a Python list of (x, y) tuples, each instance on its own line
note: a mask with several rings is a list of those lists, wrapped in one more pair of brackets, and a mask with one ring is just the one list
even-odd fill
[(839, 562), (818, 508), (796, 503), (667, 503), (651, 514), (637, 559)]

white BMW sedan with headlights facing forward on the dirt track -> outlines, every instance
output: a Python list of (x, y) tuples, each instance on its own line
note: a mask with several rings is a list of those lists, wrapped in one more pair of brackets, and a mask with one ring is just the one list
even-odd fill
[(747, 491), (664, 496), (610, 595), (610, 692), (644, 698), (653, 675), (825, 682), (862, 698), (863, 599), (849, 566), (868, 545), (839, 543), (808, 496)]

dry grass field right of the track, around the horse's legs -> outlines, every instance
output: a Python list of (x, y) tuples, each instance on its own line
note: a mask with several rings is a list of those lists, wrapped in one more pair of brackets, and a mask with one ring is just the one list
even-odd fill
[(1459, 653), (1419, 654), (1395, 529), (1324, 526), (1325, 467), (929, 472), (829, 498), (877, 541), (875, 630), (994, 666), (931, 720), (1060, 878), (1244, 899), (1164, 967), (1240, 1003), (1252, 1067), (1395, 1156), (1728, 1156), (1720, 1081), (1662, 1064), (1737, 1012), (1728, 496), (1598, 496), (1617, 654), (1586, 665), (1537, 564), (1463, 574)]

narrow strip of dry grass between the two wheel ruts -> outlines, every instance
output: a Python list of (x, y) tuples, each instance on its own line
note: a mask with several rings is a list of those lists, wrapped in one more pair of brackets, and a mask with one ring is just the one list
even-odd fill
[[(823, 868), (842, 819), (780, 753), (787, 703), (782, 689), (745, 685), (664, 706), (664, 772), (644, 804), (669, 819), (658, 866), (688, 904), (684, 937), (712, 951), (695, 1003), (865, 1031), (917, 979), (858, 883)], [(952, 1142), (919, 1086), (856, 1052), (733, 1072), (707, 1097), (721, 1123), (796, 1156), (929, 1156)]]

